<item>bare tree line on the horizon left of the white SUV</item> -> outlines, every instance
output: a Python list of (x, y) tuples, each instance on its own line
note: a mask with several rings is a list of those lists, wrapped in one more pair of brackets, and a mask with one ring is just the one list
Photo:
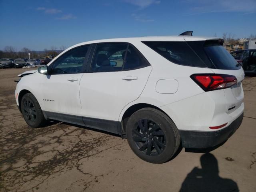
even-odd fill
[(57, 56), (60, 52), (64, 51), (66, 49), (65, 46), (60, 46), (59, 50), (55, 46), (52, 46), (50, 50), (47, 50), (46, 48), (42, 52), (32, 51), (29, 48), (22, 48), (20, 51), (17, 51), (17, 49), (13, 46), (6, 46), (3, 50), (0, 50), (0, 58), (28, 58), (28, 53), (30, 53), (30, 58), (40, 58), (40, 57), (46, 57), (48, 54), (53, 54), (54, 56)]

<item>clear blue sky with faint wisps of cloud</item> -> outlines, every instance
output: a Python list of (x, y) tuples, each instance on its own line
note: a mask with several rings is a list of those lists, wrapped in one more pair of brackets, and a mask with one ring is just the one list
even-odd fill
[(135, 36), (256, 35), (256, 0), (0, 0), (0, 50)]

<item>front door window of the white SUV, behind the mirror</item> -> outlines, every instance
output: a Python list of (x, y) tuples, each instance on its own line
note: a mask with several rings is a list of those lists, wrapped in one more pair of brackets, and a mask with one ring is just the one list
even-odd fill
[(52, 66), (52, 74), (70, 74), (82, 72), (84, 59), (89, 45), (80, 46), (64, 53)]

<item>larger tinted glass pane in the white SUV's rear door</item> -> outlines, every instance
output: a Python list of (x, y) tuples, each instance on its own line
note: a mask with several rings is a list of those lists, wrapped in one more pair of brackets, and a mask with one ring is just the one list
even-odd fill
[(127, 44), (108, 43), (96, 46), (91, 72), (120, 71), (124, 64)]

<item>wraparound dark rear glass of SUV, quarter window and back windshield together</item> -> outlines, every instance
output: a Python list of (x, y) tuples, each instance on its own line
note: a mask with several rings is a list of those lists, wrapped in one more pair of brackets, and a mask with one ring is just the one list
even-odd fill
[(236, 60), (220, 41), (143, 42), (169, 61), (186, 66), (233, 70)]

